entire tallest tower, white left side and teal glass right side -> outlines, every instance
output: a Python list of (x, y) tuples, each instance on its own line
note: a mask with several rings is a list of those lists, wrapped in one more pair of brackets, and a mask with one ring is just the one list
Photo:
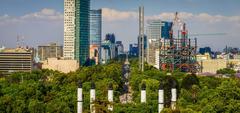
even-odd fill
[(90, 0), (64, 0), (64, 58), (83, 65), (89, 58)]

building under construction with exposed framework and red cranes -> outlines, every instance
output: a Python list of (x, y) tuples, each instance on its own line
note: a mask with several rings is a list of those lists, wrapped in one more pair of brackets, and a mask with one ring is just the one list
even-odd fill
[[(173, 34), (173, 26), (180, 25), (177, 36)], [(188, 37), (186, 23), (175, 14), (169, 38), (162, 38), (159, 47), (159, 67), (161, 70), (180, 70), (184, 72), (198, 72), (200, 66), (196, 61), (197, 39)]]

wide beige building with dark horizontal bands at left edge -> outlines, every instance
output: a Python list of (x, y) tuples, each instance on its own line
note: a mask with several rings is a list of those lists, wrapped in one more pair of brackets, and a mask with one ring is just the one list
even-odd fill
[(33, 49), (1, 48), (0, 74), (9, 75), (13, 72), (31, 72), (33, 69)]

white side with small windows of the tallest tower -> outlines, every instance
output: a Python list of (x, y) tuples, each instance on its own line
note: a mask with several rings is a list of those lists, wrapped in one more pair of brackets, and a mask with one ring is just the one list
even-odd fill
[(64, 48), (65, 59), (74, 59), (75, 0), (64, 0)]

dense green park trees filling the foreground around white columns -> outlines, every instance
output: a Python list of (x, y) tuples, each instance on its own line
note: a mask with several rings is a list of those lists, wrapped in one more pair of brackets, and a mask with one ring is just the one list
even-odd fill
[[(234, 77), (204, 77), (179, 71), (167, 75), (145, 64), (145, 71), (138, 71), (136, 59), (130, 60), (131, 103), (121, 104), (123, 93), (123, 61), (106, 65), (82, 67), (64, 74), (53, 70), (35, 70), (31, 73), (13, 73), (0, 78), (1, 113), (76, 113), (78, 81), (83, 83), (84, 113), (90, 109), (89, 90), (96, 84), (95, 108), (97, 113), (157, 113), (158, 88), (164, 84), (165, 108), (163, 113), (240, 113), (240, 80)], [(171, 84), (177, 81), (178, 100), (175, 110), (170, 108)], [(140, 103), (140, 90), (146, 84), (147, 102)], [(108, 85), (113, 84), (114, 103), (107, 101)]]

